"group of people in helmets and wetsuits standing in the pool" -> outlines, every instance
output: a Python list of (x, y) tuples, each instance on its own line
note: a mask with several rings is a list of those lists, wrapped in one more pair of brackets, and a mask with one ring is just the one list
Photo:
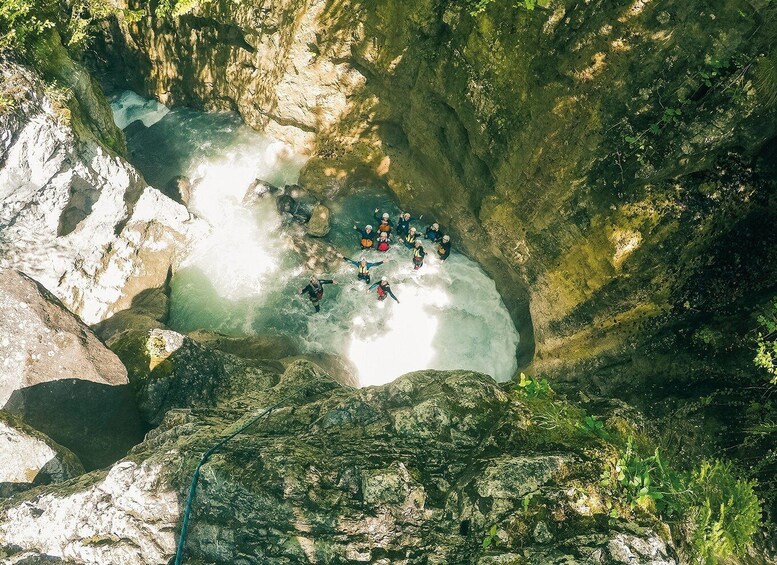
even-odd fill
[[(399, 215), (399, 219), (396, 222), (391, 221), (391, 217), (388, 212), (380, 213), (380, 208), (375, 208), (374, 212), (375, 220), (378, 223), (377, 229), (369, 224), (364, 228), (353, 226), (353, 229), (359, 232), (359, 244), (362, 250), (375, 249), (379, 253), (385, 253), (391, 248), (393, 237), (396, 235), (397, 240), (408, 249), (412, 250), (413, 268), (415, 270), (424, 266), (424, 257), (426, 257), (426, 251), (421, 243), (421, 235), (418, 230), (410, 225), (413, 218), (408, 212), (402, 212)], [(419, 217), (420, 220), (423, 216)], [(451, 254), (451, 238), (447, 234), (443, 234), (440, 229), (440, 224), (437, 222), (432, 223), (426, 228), (423, 239), (431, 241), (433, 245), (436, 245), (437, 256), (441, 261), (445, 261)], [(399, 299), (394, 295), (391, 290), (391, 284), (387, 277), (381, 277), (380, 281), (370, 285), (371, 276), (370, 269), (380, 266), (384, 261), (370, 262), (366, 257), (362, 257), (359, 261), (350, 259), (343, 255), (338, 255), (344, 261), (350, 263), (357, 269), (357, 279), (364, 281), (367, 285), (367, 292), (372, 289), (377, 289), (378, 300), (385, 300), (390, 296), (397, 303)], [(324, 285), (325, 284), (337, 284), (334, 279), (319, 279), (318, 277), (310, 277), (310, 282), (304, 288), (299, 290), (299, 294), (307, 294), (310, 298), (310, 302), (316, 312), (321, 310), (320, 302), (324, 297)]]

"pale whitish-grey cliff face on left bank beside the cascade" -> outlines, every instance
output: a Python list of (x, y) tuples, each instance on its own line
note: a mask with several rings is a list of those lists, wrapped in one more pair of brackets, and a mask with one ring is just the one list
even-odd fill
[(43, 44), (49, 64), (64, 58), (70, 66), (57, 68), (72, 87), (0, 61), (0, 267), (35, 277), (94, 323), (161, 285), (205, 227), (109, 148), (123, 147), (110, 109), (56, 41)]

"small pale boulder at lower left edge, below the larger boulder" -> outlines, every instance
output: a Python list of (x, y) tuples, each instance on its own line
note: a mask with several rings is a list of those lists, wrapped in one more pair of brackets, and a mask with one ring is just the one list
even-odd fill
[(69, 449), (0, 410), (0, 496), (83, 472)]

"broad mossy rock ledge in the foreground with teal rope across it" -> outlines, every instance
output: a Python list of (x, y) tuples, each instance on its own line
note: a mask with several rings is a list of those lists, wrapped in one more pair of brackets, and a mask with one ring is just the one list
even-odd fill
[[(610, 447), (534, 425), (542, 413), (485, 375), (422, 371), (352, 389), (298, 361), (233, 391), (169, 411), (107, 475), (0, 507), (4, 545), (74, 563), (165, 562), (200, 455), (278, 403), (202, 468), (187, 562), (677, 563), (654, 518), (609, 518)], [(599, 509), (579, 512), (581, 497)], [(498, 541), (484, 548), (492, 526)]]

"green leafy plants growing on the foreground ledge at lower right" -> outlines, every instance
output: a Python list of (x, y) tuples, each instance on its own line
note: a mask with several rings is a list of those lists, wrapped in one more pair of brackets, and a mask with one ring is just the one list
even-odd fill
[[(761, 526), (761, 503), (755, 483), (738, 478), (730, 463), (704, 461), (693, 469), (678, 469), (645, 435), (627, 427), (608, 429), (605, 421), (557, 398), (544, 379), (522, 374), (515, 394), (531, 406), (532, 420), (545, 441), (587, 437), (602, 442), (605, 449), (596, 451), (605, 457), (600, 484), (619, 501), (607, 507), (609, 520), (616, 522), (624, 513), (654, 514), (673, 525), (678, 540), (698, 563), (744, 555)], [(484, 549), (492, 539), (486, 536)]]

